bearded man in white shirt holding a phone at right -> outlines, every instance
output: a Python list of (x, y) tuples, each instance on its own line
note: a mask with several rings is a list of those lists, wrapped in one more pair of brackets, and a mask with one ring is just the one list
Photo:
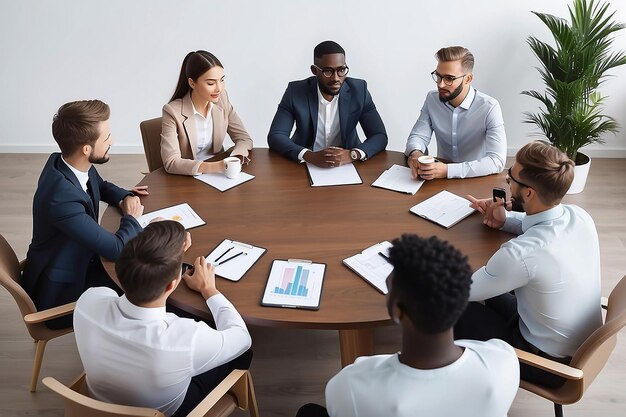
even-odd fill
[[(519, 150), (509, 168), (510, 201), (468, 196), (487, 226), (518, 236), (472, 275), (470, 300), (486, 301), (470, 303), (455, 327), (455, 337), (498, 337), (519, 349), (569, 363), (602, 325), (595, 224), (582, 208), (561, 204), (573, 178), (574, 163), (564, 153), (532, 142)], [(525, 213), (507, 212), (513, 202)], [(521, 377), (553, 387), (564, 382), (524, 364)]]

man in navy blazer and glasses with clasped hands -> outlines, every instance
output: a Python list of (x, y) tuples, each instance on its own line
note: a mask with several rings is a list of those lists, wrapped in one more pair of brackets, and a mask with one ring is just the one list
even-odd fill
[[(387, 132), (367, 83), (347, 78), (348, 70), (339, 44), (325, 41), (315, 47), (313, 76), (290, 82), (278, 105), (267, 136), (270, 149), (327, 168), (365, 161), (385, 149)], [(366, 136), (363, 142), (357, 123)]]

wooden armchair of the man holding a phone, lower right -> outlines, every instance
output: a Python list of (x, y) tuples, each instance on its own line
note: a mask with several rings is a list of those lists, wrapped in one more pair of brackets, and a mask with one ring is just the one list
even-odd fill
[(559, 388), (546, 388), (520, 381), (521, 388), (552, 401), (557, 417), (563, 417), (563, 405), (573, 404), (582, 398), (615, 348), (617, 333), (626, 325), (626, 276), (611, 291), (608, 302), (604, 302), (605, 300), (602, 303), (602, 307), (607, 310), (604, 324), (578, 348), (569, 365), (515, 349), (520, 362), (566, 379), (565, 384)]

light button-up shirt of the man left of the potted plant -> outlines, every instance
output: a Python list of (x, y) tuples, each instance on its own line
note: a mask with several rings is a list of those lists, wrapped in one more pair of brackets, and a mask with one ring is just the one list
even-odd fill
[(463, 102), (453, 107), (441, 102), (437, 91), (429, 92), (405, 154), (426, 152), (433, 132), (438, 156), (451, 161), (448, 178), (479, 177), (504, 168), (506, 134), (496, 99), (470, 88)]

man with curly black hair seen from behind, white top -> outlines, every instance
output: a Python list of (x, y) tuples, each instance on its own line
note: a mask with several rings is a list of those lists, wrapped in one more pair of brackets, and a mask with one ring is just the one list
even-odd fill
[(297, 417), (505, 417), (519, 385), (513, 348), (502, 340), (453, 340), (472, 271), (447, 242), (403, 235), (389, 251), (387, 308), (402, 350), (360, 357), (326, 386), (326, 406)]

